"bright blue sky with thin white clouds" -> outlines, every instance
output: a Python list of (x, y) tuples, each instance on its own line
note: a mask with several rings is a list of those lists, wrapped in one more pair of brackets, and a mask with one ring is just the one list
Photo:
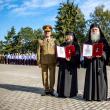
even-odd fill
[[(45, 24), (55, 25), (59, 3), (66, 0), (0, 0), (0, 40), (12, 26), (18, 32), (21, 27), (41, 28)], [(73, 0), (70, 0), (73, 1)], [(75, 0), (86, 19), (98, 5), (110, 10), (110, 0)]]

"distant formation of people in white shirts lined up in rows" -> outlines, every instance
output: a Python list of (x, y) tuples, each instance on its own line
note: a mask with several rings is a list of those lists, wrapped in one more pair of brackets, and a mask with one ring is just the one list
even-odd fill
[(0, 54), (1, 64), (37, 65), (36, 53)]

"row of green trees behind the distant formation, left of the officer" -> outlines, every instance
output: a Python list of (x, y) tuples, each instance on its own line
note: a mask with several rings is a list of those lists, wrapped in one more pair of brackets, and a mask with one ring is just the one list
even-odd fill
[(12, 27), (5, 36), (5, 41), (0, 42), (0, 52), (4, 53), (26, 53), (36, 52), (37, 39), (43, 38), (42, 30), (33, 30), (31, 27), (21, 28), (16, 34), (15, 28)]

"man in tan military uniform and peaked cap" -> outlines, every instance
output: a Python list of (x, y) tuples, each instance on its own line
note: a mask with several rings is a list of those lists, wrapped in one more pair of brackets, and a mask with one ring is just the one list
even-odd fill
[(48, 94), (54, 95), (55, 67), (56, 67), (56, 55), (55, 55), (56, 41), (51, 36), (52, 27), (50, 25), (45, 25), (43, 26), (43, 30), (44, 30), (44, 39), (38, 40), (38, 49), (37, 49), (37, 63), (42, 70), (42, 81), (45, 89), (42, 96)]

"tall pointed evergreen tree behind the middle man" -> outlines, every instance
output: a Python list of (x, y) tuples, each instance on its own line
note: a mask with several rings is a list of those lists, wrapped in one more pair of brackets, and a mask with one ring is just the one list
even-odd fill
[(84, 37), (85, 19), (78, 5), (73, 2), (61, 3), (58, 9), (56, 21), (56, 32), (58, 33), (57, 39), (63, 41), (65, 32), (71, 31), (76, 36)]

